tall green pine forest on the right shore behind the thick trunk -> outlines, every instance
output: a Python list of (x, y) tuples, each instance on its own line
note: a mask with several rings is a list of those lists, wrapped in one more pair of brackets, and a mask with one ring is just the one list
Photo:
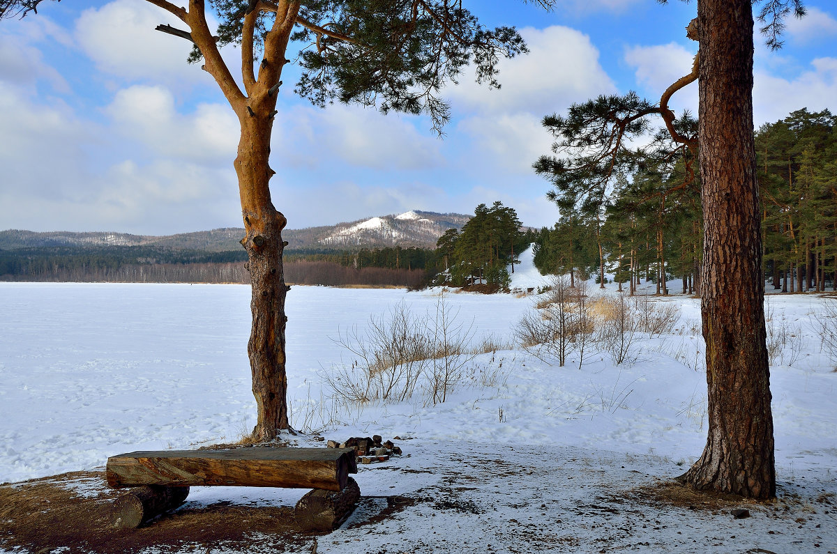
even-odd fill
[[(764, 275), (775, 289), (825, 290), (837, 281), (837, 118), (829, 110), (797, 110), (755, 133), (761, 192)], [(681, 153), (682, 154), (682, 153)], [(640, 280), (667, 294), (666, 280), (681, 291), (700, 284), (701, 184), (688, 153), (644, 157), (638, 169), (620, 175), (601, 203), (571, 185), (553, 193), (565, 214), (535, 239), (542, 274), (607, 272), (631, 292)]]

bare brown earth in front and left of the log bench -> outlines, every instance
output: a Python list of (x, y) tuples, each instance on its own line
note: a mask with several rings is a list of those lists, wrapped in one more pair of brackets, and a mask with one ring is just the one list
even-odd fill
[(188, 507), (161, 516), (151, 525), (130, 531), (109, 526), (110, 505), (121, 491), (110, 490), (104, 471), (55, 475), (0, 485), (0, 548), (21, 548), (37, 554), (64, 547), (63, 552), (116, 554), (154, 547), (181, 551), (188, 545), (235, 548), (260, 546), (285, 551), (311, 542), (295, 529), (293, 506), (265, 507), (222, 502)]

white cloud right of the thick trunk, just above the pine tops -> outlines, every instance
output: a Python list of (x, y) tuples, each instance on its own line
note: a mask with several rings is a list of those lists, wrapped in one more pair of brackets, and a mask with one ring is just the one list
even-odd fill
[(752, 90), (756, 126), (783, 119), (800, 108), (837, 110), (837, 58), (814, 59), (811, 66), (792, 80), (756, 71)]

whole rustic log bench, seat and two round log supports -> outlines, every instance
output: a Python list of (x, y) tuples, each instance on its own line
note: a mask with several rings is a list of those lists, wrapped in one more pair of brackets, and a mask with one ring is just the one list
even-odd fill
[(306, 531), (331, 531), (352, 513), (360, 489), (354, 449), (240, 448), (162, 450), (111, 456), (105, 474), (116, 499), (110, 525), (133, 529), (186, 501), (190, 486), (314, 489), (295, 506)]

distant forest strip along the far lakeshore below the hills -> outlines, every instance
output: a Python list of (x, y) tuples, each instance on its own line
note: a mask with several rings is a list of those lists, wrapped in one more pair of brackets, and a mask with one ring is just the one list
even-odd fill
[[(0, 280), (114, 283), (241, 283), (247, 253), (159, 246), (44, 246), (0, 250)], [(434, 250), (288, 250), (291, 285), (424, 285), (435, 274)]]

